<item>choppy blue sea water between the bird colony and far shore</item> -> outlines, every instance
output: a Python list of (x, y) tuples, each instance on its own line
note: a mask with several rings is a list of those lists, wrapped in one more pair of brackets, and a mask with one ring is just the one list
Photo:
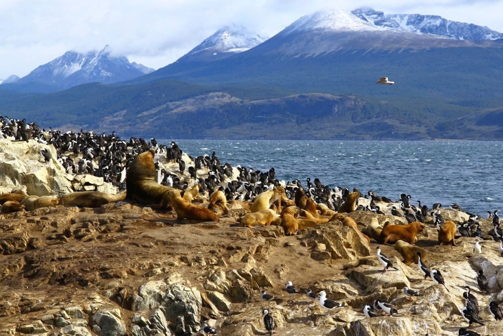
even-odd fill
[[(160, 140), (169, 144), (171, 140)], [(456, 203), (486, 217), (503, 208), (503, 142), (485, 141), (275, 141), (175, 140), (192, 157), (215, 151), (224, 164), (254, 170), (274, 167), (285, 181), (319, 178), (330, 187), (373, 190), (393, 200), (400, 193), (434, 203)]]

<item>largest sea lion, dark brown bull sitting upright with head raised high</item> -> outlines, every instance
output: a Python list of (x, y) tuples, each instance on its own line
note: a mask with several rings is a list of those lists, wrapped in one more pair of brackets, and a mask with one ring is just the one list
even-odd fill
[(173, 187), (155, 182), (155, 152), (140, 153), (126, 171), (126, 198), (152, 208), (167, 207), (166, 191)]

